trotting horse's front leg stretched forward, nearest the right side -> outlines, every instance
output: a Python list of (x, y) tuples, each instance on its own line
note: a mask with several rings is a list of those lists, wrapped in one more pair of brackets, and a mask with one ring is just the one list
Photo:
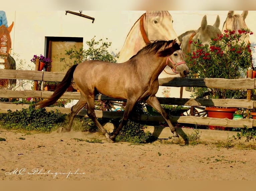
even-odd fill
[(162, 108), (162, 106), (160, 105), (158, 99), (156, 96), (150, 96), (147, 100), (146, 103), (148, 103), (149, 105), (151, 105), (155, 110), (157, 110), (165, 119), (165, 121), (167, 122), (167, 124), (169, 125), (171, 132), (173, 133), (174, 137), (179, 137), (178, 133), (176, 132), (175, 127), (171, 124), (170, 121), (170, 117), (169, 115), (165, 112), (165, 110)]

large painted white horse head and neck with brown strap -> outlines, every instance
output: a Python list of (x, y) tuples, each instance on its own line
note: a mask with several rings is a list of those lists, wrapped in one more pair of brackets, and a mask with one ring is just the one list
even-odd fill
[(129, 60), (150, 41), (178, 39), (172, 22), (168, 11), (146, 11), (128, 33), (117, 62)]

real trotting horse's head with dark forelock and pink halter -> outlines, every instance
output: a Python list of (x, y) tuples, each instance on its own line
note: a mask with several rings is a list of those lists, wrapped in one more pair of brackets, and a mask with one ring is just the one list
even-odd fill
[(170, 43), (168, 48), (158, 52), (158, 56), (167, 57), (166, 65), (169, 66), (174, 73), (179, 74), (180, 77), (186, 77), (189, 73), (189, 69), (184, 61), (183, 53), (180, 49), (181, 43), (178, 44), (176, 39), (168, 41), (168, 43)]

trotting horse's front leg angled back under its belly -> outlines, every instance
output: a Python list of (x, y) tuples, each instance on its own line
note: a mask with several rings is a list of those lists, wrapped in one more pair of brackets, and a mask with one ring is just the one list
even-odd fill
[(132, 108), (134, 107), (135, 103), (136, 103), (135, 99), (127, 99), (122, 122), (116, 128), (116, 130), (113, 132), (113, 135), (110, 137), (113, 141), (115, 141), (116, 136), (119, 134), (119, 132), (123, 128), (123, 126), (125, 126), (127, 124), (129, 114), (130, 114)]

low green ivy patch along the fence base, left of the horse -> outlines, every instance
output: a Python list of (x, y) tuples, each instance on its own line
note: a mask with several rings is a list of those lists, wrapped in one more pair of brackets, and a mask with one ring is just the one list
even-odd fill
[(7, 129), (36, 130), (50, 132), (58, 123), (65, 120), (65, 114), (58, 110), (46, 111), (45, 108), (35, 109), (33, 105), (8, 113), (0, 113), (0, 125)]

